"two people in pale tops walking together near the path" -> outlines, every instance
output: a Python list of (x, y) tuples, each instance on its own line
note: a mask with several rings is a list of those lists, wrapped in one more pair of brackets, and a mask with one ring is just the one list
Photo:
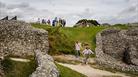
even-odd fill
[[(76, 58), (78, 58), (81, 54), (81, 43), (76, 41), (75, 42), (75, 56)], [(82, 51), (82, 55), (84, 56), (84, 60), (83, 63), (87, 64), (88, 63), (88, 59), (90, 57), (91, 54), (94, 54), (94, 52), (90, 49), (90, 47), (88, 45), (85, 46), (85, 49)]]

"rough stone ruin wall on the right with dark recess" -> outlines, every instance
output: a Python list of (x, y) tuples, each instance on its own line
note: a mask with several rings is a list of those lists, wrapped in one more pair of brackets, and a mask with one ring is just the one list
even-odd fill
[(138, 28), (107, 29), (96, 36), (96, 62), (106, 68), (138, 72)]

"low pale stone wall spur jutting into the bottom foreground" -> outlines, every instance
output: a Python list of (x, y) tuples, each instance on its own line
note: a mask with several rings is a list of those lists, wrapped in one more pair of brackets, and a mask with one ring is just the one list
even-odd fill
[(38, 67), (30, 77), (59, 77), (59, 72), (51, 56), (35, 51)]

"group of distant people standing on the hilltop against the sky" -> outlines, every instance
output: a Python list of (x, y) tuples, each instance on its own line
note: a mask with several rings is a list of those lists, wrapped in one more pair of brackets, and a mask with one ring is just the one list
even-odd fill
[(37, 23), (42, 23), (42, 24), (47, 24), (47, 25), (52, 25), (54, 26), (61, 26), (61, 27), (65, 27), (66, 25), (66, 20), (62, 19), (62, 18), (57, 18), (55, 17), (54, 20), (52, 20), (52, 22), (50, 21), (50, 19), (46, 20), (46, 19), (42, 19), (40, 20), (40, 18), (38, 18)]

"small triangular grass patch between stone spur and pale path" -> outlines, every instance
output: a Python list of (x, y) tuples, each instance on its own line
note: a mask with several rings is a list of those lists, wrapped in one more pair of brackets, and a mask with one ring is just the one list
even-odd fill
[(62, 65), (56, 64), (59, 72), (60, 77), (86, 77), (85, 75), (78, 73), (70, 68), (64, 67)]

